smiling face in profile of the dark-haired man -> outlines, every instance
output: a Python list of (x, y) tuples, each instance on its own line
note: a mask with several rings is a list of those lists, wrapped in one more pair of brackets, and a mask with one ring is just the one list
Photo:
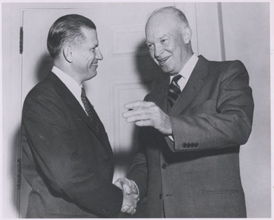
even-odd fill
[(98, 60), (103, 59), (95, 29), (83, 28), (82, 33), (86, 39), (72, 45), (73, 61), (71, 62), (73, 72), (80, 83), (97, 75)]

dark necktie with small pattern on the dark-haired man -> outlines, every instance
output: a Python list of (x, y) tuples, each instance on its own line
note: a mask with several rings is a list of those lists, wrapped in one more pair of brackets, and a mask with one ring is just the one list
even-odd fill
[(97, 135), (102, 134), (102, 132), (105, 130), (105, 128), (103, 127), (103, 124), (102, 124), (99, 116), (97, 115), (95, 109), (93, 108), (93, 106), (90, 104), (90, 101), (86, 97), (86, 92), (85, 92), (84, 88), (82, 88), (81, 99), (82, 99), (82, 102), (86, 109), (86, 113), (88, 113), (88, 117), (90, 118), (90, 120), (95, 128), (95, 132), (97, 133)]

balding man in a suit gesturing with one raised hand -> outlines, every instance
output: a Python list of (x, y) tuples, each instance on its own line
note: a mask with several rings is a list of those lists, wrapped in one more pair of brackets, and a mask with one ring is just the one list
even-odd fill
[(253, 98), (245, 66), (193, 54), (176, 8), (153, 12), (145, 31), (166, 79), (145, 101), (125, 105), (127, 122), (140, 126), (139, 150), (115, 184), (147, 197), (148, 217), (246, 217), (239, 150), (251, 133)]

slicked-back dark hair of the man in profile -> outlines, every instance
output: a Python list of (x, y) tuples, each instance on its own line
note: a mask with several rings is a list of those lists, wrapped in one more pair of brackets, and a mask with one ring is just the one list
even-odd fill
[(57, 57), (65, 42), (81, 43), (85, 40), (82, 28), (95, 29), (95, 24), (79, 14), (67, 14), (55, 20), (47, 36), (47, 49), (53, 59)]

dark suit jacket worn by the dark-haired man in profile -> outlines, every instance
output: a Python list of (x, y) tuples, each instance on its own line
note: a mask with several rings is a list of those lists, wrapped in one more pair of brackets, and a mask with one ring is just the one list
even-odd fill
[(123, 202), (112, 184), (114, 160), (79, 102), (52, 72), (25, 98), (23, 174), (32, 187), (27, 217), (116, 217)]

